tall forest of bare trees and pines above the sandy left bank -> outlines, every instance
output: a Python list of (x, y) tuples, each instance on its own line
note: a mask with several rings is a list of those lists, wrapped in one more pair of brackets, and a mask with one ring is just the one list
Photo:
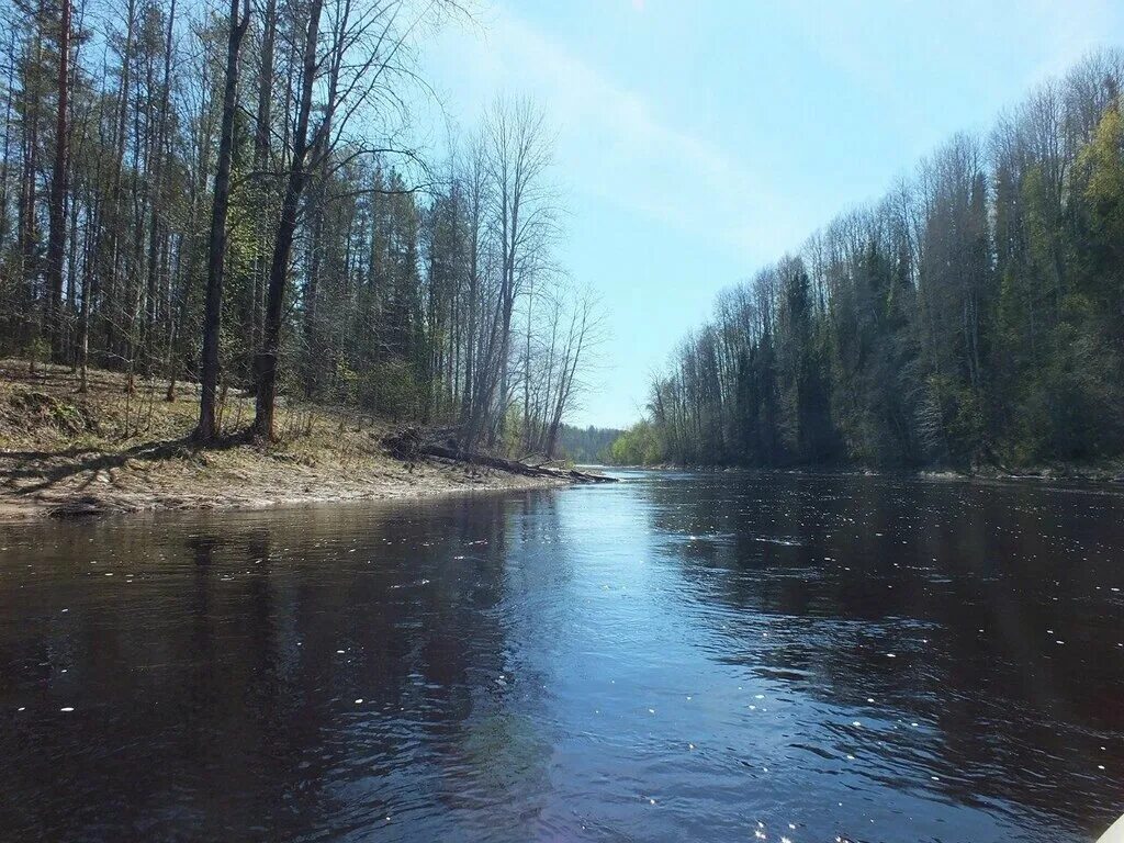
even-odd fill
[(411, 140), (456, 3), (0, 15), (0, 355), (190, 382), (201, 441), (236, 389), (260, 441), (299, 400), (556, 450), (600, 323), (553, 255), (552, 129), (499, 98), (439, 154)]

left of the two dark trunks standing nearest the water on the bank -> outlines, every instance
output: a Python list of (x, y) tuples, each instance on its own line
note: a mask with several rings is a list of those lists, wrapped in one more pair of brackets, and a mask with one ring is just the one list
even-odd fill
[(226, 49), (226, 83), (223, 89), (223, 127), (215, 172), (215, 201), (211, 205), (210, 242), (207, 254), (207, 303), (203, 315), (202, 392), (199, 401), (199, 427), (196, 437), (207, 442), (218, 434), (216, 416), (218, 393), (218, 345), (223, 323), (223, 271), (226, 263), (226, 217), (230, 205), (230, 161), (234, 157), (234, 111), (238, 93), (238, 53), (250, 24), (250, 0), (243, 0), (238, 20), (238, 0), (230, 0), (230, 36)]

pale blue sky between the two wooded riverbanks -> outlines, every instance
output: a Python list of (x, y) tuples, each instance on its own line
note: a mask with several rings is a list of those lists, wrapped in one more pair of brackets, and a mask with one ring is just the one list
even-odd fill
[[(520, 0), (422, 49), (472, 128), (528, 96), (555, 134), (559, 261), (608, 339), (572, 424), (640, 418), (716, 293), (877, 199), (960, 130), (1124, 43), (1124, 0)], [(1115, 42), (1113, 40), (1115, 39)]]

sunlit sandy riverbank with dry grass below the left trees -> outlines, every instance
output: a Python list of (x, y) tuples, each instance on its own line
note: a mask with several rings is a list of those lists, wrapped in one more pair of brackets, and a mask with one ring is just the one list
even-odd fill
[(262, 508), (564, 486), (491, 466), (426, 457), (401, 460), (383, 447), (384, 420), (312, 406), (283, 406), (280, 442), (262, 447), (238, 435), (253, 398), (229, 390), (226, 438), (190, 442), (196, 384), (91, 371), (88, 390), (62, 366), (29, 371), (0, 361), (0, 519), (108, 515), (155, 509)]

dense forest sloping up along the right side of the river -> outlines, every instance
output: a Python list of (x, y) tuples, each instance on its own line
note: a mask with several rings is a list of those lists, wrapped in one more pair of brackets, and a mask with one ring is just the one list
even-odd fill
[(1087, 57), (719, 296), (618, 463), (1124, 454), (1124, 55)]

